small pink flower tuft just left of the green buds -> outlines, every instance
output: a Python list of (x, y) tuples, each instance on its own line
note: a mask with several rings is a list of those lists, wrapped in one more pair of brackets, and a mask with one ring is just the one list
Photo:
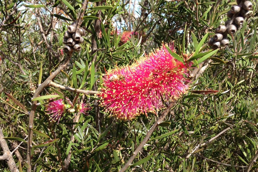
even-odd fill
[(66, 112), (66, 104), (64, 103), (63, 99), (49, 102), (47, 106), (47, 111), (47, 115), (52, 118), (51, 121), (58, 121), (57, 123), (59, 123), (61, 117), (63, 116), (63, 113)]

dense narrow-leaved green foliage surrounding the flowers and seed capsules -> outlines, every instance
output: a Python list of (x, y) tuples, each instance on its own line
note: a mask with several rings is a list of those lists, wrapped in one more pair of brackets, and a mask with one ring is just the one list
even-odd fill
[[(248, 171), (248, 164), (257, 171), (252, 159), (258, 148), (258, 3), (252, 3), (243, 27), (227, 35), (230, 44), (189, 69), (189, 74), (204, 71), (187, 78), (190, 92), (177, 101), (126, 171)], [(225, 0), (90, 1), (81, 16), (86, 30), (82, 50), (68, 58), (62, 49), (63, 35), (78, 18), (81, 0), (1, 1), (0, 126), (5, 137), (12, 137), (6, 139), (10, 151), (21, 139), (28, 142), (33, 131), (33, 147), (23, 142), (13, 153), (19, 170), (119, 171), (164, 109), (132, 121), (104, 112), (94, 93), (100, 90), (105, 70), (130, 65), (162, 42), (174, 41), (180, 57), (183, 53), (191, 57), (202, 38), (207, 33), (212, 37), (228, 19), (227, 11), (234, 4)], [(136, 34), (121, 43), (123, 31)], [(200, 45), (206, 42), (208, 38)], [(202, 52), (211, 47), (204, 48)], [(46, 114), (49, 99), (42, 99), (37, 101), (29, 129), (34, 112), (31, 98), (66, 59), (68, 65), (52, 80), (59, 85), (48, 84), (39, 95), (58, 94), (66, 102), (87, 103), (90, 110), (86, 115), (67, 112), (57, 124)], [(83, 94), (59, 86), (95, 92)], [(4, 160), (0, 171), (10, 171)]]

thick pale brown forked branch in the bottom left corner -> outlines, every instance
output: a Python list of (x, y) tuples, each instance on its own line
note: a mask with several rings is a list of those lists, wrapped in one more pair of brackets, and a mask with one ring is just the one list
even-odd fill
[(13, 159), (13, 154), (10, 152), (9, 147), (7, 145), (7, 142), (4, 139), (4, 134), (2, 132), (2, 129), (0, 129), (0, 145), (1, 145), (2, 150), (4, 152), (4, 154), (0, 156), (0, 160), (6, 160), (7, 165), (10, 168), (10, 171), (19, 172), (19, 170), (16, 166), (16, 163)]

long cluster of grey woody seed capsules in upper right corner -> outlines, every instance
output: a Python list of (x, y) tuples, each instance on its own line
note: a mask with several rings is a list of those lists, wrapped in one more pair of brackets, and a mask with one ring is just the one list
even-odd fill
[(230, 18), (225, 22), (225, 25), (219, 25), (215, 29), (215, 35), (209, 39), (208, 45), (213, 48), (225, 47), (229, 44), (227, 34), (234, 34), (242, 27), (242, 24), (250, 14), (253, 7), (251, 1), (236, 0), (237, 5), (233, 5), (230, 11), (227, 12), (227, 17)]

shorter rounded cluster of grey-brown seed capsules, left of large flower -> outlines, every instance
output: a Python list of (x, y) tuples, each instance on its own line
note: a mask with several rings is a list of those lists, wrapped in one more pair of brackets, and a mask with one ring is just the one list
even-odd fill
[(64, 33), (63, 37), (63, 44), (64, 51), (66, 53), (72, 51), (80, 51), (81, 50), (81, 43), (84, 41), (83, 37), (85, 35), (84, 28), (76, 29), (76, 23), (73, 22), (72, 25), (68, 26), (67, 31)]

